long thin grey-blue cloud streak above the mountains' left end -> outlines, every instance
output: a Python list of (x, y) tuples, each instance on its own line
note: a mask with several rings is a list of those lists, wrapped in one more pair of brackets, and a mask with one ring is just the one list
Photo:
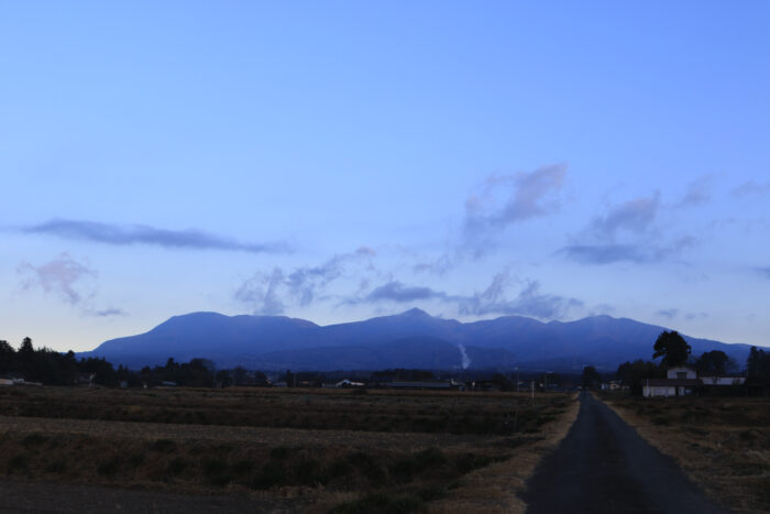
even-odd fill
[(21, 231), (112, 245), (146, 244), (169, 249), (224, 250), (251, 253), (278, 253), (289, 250), (286, 245), (279, 243), (245, 243), (196, 229), (167, 230), (146, 225), (122, 226), (61, 218), (25, 227)]

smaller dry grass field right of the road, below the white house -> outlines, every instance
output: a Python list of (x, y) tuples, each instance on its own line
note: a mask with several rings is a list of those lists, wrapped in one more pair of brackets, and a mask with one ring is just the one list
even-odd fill
[(770, 512), (770, 398), (602, 398), (714, 501)]

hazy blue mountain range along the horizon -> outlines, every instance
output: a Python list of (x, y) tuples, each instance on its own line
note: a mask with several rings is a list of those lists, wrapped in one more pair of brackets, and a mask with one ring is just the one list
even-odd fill
[[(319, 326), (285, 316), (174, 316), (138, 336), (112, 339), (78, 357), (106, 358), (131, 369), (194, 358), (218, 368), (261, 370), (553, 370), (584, 365), (614, 371), (652, 357), (664, 327), (628, 318), (592, 316), (541, 322), (521, 316), (460, 322), (413, 308), (394, 316)], [(684, 336), (692, 354), (722, 350), (743, 367), (750, 347)]]

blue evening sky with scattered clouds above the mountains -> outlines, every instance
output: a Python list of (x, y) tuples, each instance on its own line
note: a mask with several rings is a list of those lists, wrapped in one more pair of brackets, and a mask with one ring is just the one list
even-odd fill
[(770, 346), (770, 3), (0, 4), (0, 339), (198, 310)]

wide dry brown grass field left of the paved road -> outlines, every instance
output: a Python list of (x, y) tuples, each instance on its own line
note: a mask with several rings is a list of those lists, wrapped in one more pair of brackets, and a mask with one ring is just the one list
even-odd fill
[(0, 472), (273, 497), (283, 511), (512, 512), (576, 406), (562, 394), (8, 387)]

